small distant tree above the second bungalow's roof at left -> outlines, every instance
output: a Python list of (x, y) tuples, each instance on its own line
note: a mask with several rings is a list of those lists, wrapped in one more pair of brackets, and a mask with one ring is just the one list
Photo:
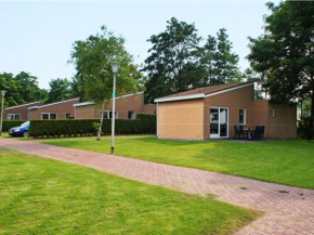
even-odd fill
[(47, 103), (66, 100), (71, 96), (70, 82), (67, 78), (56, 78), (49, 82), (49, 92)]

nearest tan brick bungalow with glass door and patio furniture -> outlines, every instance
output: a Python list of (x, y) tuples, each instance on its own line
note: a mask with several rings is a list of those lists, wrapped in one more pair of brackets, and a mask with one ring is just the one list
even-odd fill
[(269, 139), (297, 138), (297, 107), (254, 101), (254, 82), (199, 88), (156, 99), (159, 139), (234, 138), (234, 126), (265, 126)]

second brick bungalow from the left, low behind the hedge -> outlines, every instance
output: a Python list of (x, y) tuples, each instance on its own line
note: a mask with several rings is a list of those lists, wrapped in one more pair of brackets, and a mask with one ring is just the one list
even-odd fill
[(79, 103), (79, 97), (28, 107), (29, 119), (66, 119), (74, 117), (75, 109), (73, 105), (77, 103)]

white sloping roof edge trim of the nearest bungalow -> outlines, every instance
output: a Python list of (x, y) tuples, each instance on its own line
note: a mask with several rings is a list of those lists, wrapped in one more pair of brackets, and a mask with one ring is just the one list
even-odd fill
[(209, 96), (222, 94), (222, 93), (225, 93), (225, 92), (230, 92), (230, 91), (233, 91), (233, 90), (241, 89), (241, 88), (253, 86), (253, 84), (254, 84), (254, 81), (249, 82), (249, 83), (245, 83), (245, 84), (240, 84), (240, 86), (236, 86), (236, 87), (233, 87), (233, 88), (227, 88), (227, 89), (224, 89), (224, 90), (221, 90), (221, 91), (217, 91), (217, 92), (212, 92), (212, 93), (209, 93), (209, 94), (198, 93), (198, 94), (182, 95), (182, 96), (159, 97), (159, 99), (155, 99), (154, 102), (155, 103), (161, 103), (161, 102), (170, 102), (170, 101), (182, 101), (182, 100), (193, 100), (193, 99), (209, 97)]

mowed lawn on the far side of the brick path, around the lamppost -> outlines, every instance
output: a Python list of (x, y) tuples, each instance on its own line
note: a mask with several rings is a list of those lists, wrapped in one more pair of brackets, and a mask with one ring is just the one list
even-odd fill
[[(39, 140), (57, 146), (109, 153), (110, 140)], [(182, 142), (156, 138), (117, 138), (117, 155), (168, 165), (314, 188), (314, 141)]]

